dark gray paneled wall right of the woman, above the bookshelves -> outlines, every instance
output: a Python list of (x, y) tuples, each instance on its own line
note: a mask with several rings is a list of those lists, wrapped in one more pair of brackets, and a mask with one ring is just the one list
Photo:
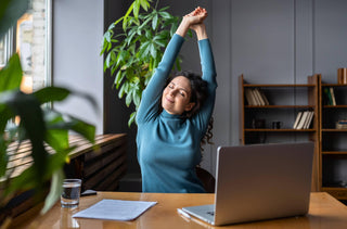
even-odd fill
[(204, 7), (219, 84), (215, 145), (206, 149), (204, 167), (215, 173), (218, 145), (239, 144), (241, 74), (254, 84), (305, 84), (316, 73), (337, 82), (337, 68), (347, 66), (347, 1), (214, 0)]

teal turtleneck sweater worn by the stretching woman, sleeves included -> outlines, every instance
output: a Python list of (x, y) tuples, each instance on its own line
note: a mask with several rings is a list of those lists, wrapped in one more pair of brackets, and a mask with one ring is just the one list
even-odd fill
[(201, 162), (200, 143), (214, 110), (216, 68), (208, 39), (198, 41), (203, 79), (209, 97), (200, 113), (191, 118), (160, 112), (163, 89), (184, 39), (174, 35), (156, 68), (138, 110), (138, 161), (143, 192), (205, 192), (195, 174)]

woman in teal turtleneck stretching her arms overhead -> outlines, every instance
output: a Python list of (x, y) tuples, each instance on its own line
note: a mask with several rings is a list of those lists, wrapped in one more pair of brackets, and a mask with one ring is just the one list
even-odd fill
[[(202, 158), (200, 142), (208, 127), (217, 88), (215, 62), (203, 23), (206, 16), (206, 10), (197, 8), (183, 17), (143, 91), (137, 115), (143, 192), (205, 192), (195, 167)], [(204, 80), (181, 73), (166, 85), (189, 28), (197, 35)]]

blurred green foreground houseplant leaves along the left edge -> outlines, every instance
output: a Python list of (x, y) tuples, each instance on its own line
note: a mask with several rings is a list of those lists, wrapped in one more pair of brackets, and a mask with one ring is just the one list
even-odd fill
[[(21, 17), (27, 7), (28, 1), (24, 0), (1, 1), (0, 37)], [(0, 69), (0, 212), (17, 192), (35, 190), (36, 198), (44, 198), (40, 195), (46, 193), (44, 183), (50, 181), (50, 192), (42, 208), (44, 213), (60, 198), (64, 179), (63, 165), (68, 162), (68, 153), (75, 149), (69, 145), (68, 131), (73, 130), (93, 142), (95, 128), (44, 106), (47, 103), (63, 101), (76, 92), (59, 87), (46, 87), (34, 93), (23, 93), (20, 90), (22, 75), (20, 56), (13, 54), (7, 66)], [(79, 96), (86, 98), (86, 94)], [(95, 106), (91, 98), (88, 101)], [(20, 117), (20, 124), (9, 128), (9, 120), (14, 117)], [(15, 178), (9, 179), (13, 170), (7, 169), (10, 163), (8, 148), (11, 144), (18, 149), (25, 140), (31, 144), (29, 156), (33, 157), (33, 165)], [(47, 145), (50, 145), (54, 153), (49, 153)]]

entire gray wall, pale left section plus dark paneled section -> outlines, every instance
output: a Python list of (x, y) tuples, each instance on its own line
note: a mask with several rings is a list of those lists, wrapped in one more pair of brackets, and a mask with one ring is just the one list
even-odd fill
[[(85, 89), (98, 100), (102, 100), (100, 2), (54, 1), (54, 81)], [(113, 3), (115, 9), (105, 9), (107, 17), (118, 18), (128, 2), (117, 1), (118, 7)], [(175, 15), (183, 15), (196, 5), (209, 12), (206, 24), (219, 87), (214, 113), (215, 144), (205, 148), (203, 166), (213, 174), (217, 147), (239, 144), (237, 77), (241, 74), (255, 84), (304, 84), (307, 76), (316, 73), (321, 73), (325, 82), (336, 82), (337, 68), (347, 66), (345, 0), (176, 0), (169, 5)], [(106, 18), (106, 27), (108, 23)], [(184, 43), (182, 67), (198, 72), (195, 42), (193, 38)], [(112, 78), (107, 80), (105, 88), (111, 88)], [(129, 144), (134, 145), (136, 130), (126, 129), (125, 107), (116, 92), (108, 89), (104, 101), (106, 132), (128, 131)], [(80, 105), (70, 103), (65, 107), (78, 114), (93, 114), (87, 112), (87, 105)], [(94, 120), (99, 125), (101, 119)], [(139, 173), (134, 148), (129, 151), (129, 160), (133, 165), (129, 173)]]

